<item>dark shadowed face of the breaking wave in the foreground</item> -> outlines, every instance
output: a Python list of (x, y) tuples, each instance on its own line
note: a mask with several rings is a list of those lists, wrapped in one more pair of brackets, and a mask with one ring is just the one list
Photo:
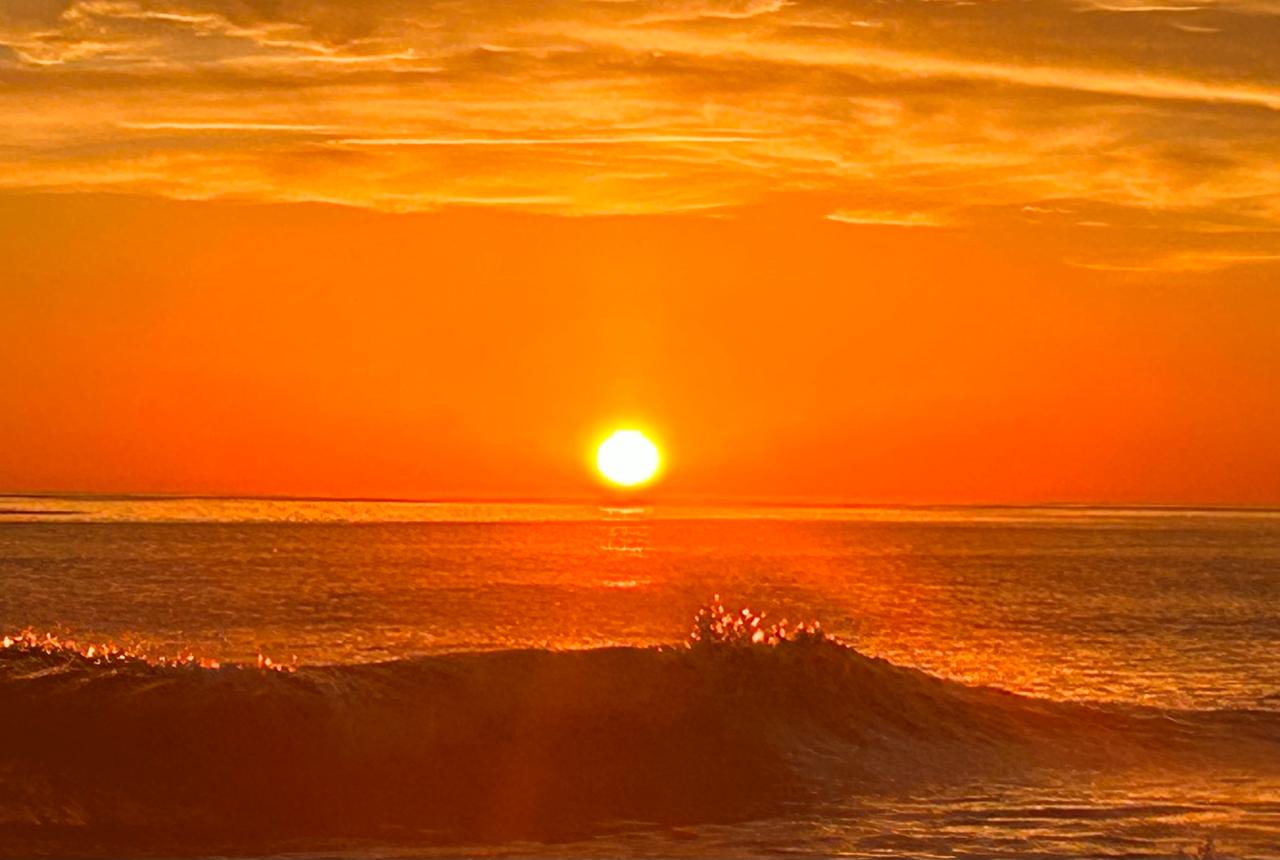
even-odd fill
[(1027, 699), (822, 637), (293, 673), (9, 648), (0, 854), (570, 838), (767, 815), (833, 786), (1280, 761), (1277, 721)]

